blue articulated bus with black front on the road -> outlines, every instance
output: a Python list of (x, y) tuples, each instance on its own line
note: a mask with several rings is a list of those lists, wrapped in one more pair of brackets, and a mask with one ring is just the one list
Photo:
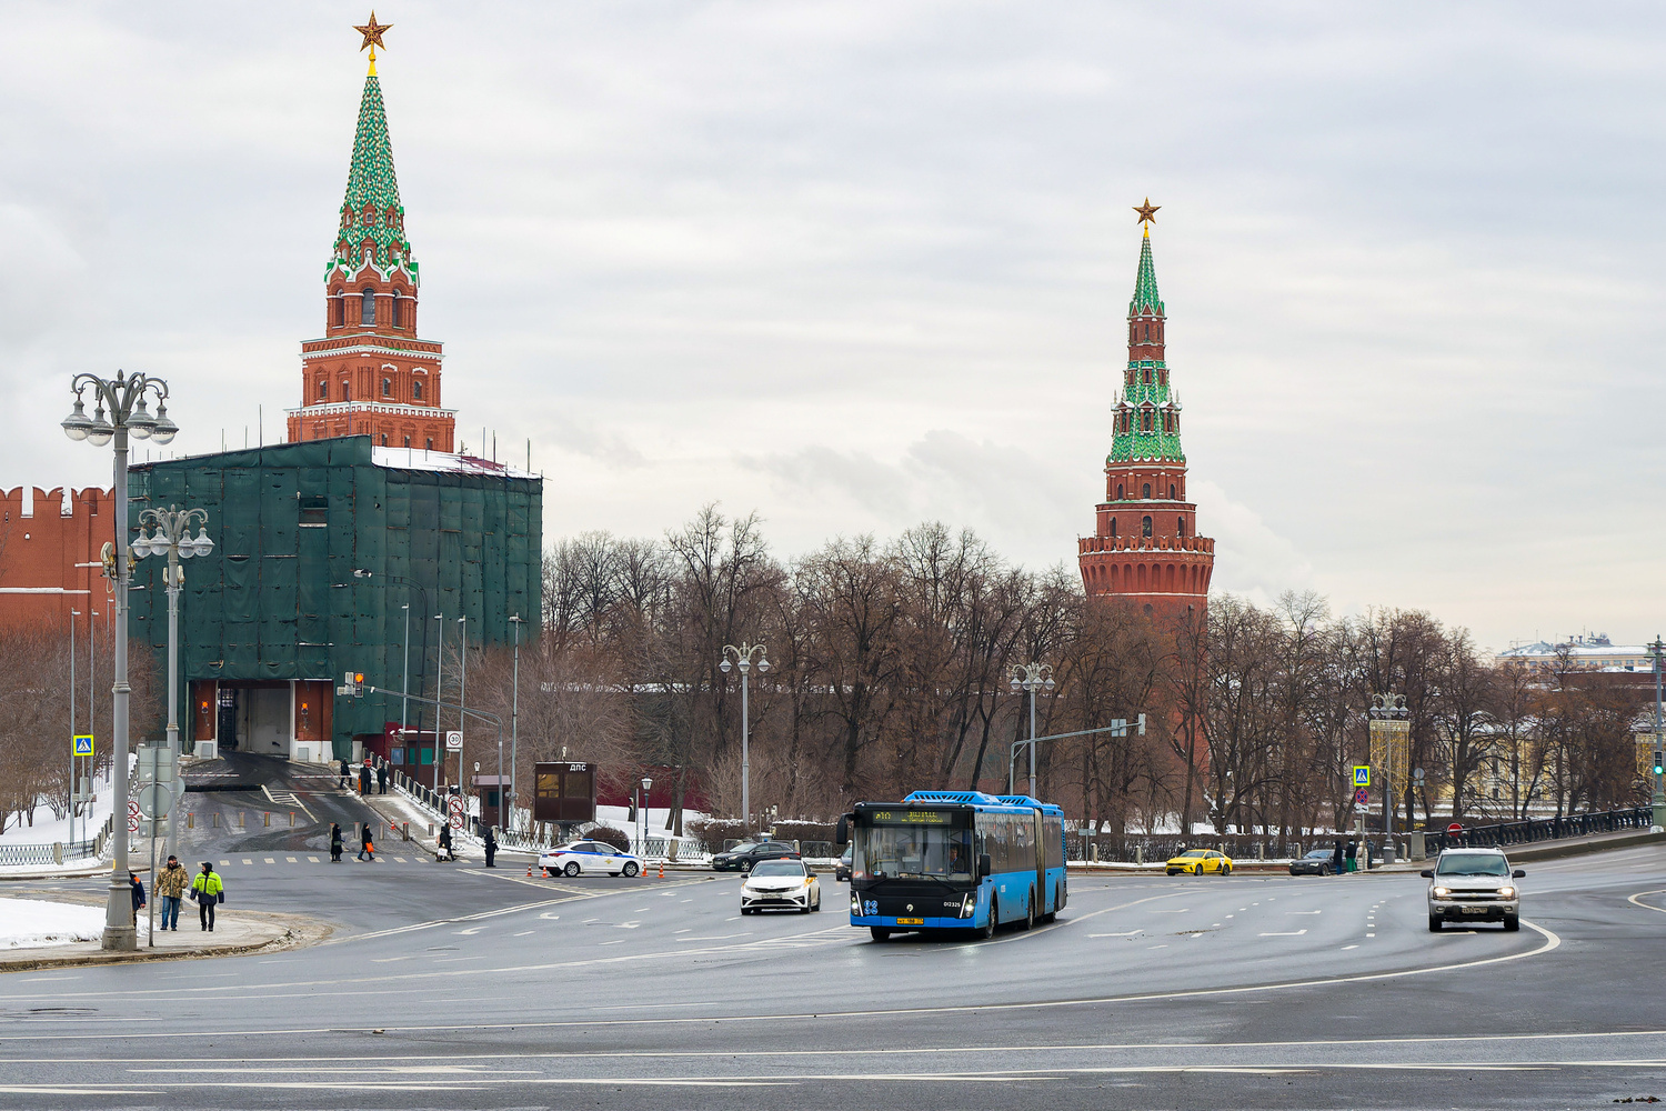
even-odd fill
[(838, 820), (851, 843), (850, 924), (875, 941), (900, 931), (988, 938), (1053, 921), (1065, 883), (1065, 811), (1028, 795), (915, 791), (860, 803)]

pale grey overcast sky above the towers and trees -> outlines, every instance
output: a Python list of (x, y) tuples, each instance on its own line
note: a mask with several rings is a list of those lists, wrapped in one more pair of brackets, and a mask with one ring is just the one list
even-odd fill
[[(0, 5), (5, 486), (80, 370), (268, 441), (368, 5)], [(1093, 530), (1153, 232), (1215, 588), (1666, 631), (1653, 3), (378, 3), (421, 331), (546, 540)]]

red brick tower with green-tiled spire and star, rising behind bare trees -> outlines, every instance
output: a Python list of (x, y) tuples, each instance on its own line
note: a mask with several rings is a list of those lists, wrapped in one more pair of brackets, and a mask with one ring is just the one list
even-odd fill
[[(1136, 207), (1150, 225), (1160, 205)], [(1186, 501), (1180, 450), (1180, 396), (1163, 361), (1163, 300), (1151, 263), (1151, 228), (1140, 243), (1140, 272), (1128, 303), (1128, 368), (1116, 396), (1105, 501), (1093, 536), (1076, 541), (1090, 595), (1128, 598), (1151, 616), (1203, 616), (1215, 541), (1198, 536), (1198, 506)]]

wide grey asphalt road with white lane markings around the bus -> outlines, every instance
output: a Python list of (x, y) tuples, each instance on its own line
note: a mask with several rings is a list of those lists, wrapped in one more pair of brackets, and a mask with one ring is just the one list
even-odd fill
[[(358, 806), (330, 790), (298, 798)], [(225, 913), (313, 908), (340, 926), (325, 944), (0, 978), (0, 1106), (1666, 1098), (1658, 846), (1528, 866), (1516, 934), (1431, 934), (1414, 874), (1238, 873), (1075, 878), (1053, 926), (873, 943), (831, 878), (820, 914), (741, 918), (731, 874), (328, 864), (312, 836), (222, 828), (200, 848), (235, 861)]]

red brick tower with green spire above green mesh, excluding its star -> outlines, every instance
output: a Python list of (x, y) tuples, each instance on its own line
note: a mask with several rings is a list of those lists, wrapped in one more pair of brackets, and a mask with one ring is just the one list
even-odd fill
[(416, 338), (416, 285), (372, 50), (342, 225), (325, 267), (325, 333), (302, 341), (302, 408), (288, 411), (290, 443), (368, 435), (377, 446), (455, 450), (456, 413), (440, 408), (441, 345)]

